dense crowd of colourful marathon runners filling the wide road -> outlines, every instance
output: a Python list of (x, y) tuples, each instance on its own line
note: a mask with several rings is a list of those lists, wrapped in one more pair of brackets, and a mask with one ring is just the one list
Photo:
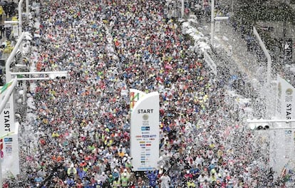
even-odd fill
[[(228, 85), (187, 50), (191, 41), (163, 7), (157, 0), (40, 1), (32, 61), (37, 71), (70, 76), (36, 83), (30, 126), (38, 142), (21, 152), (28, 187), (274, 186), (268, 159), (242, 122), (247, 104), (239, 107)], [(160, 93), (160, 157), (151, 172), (133, 172), (130, 88)]]

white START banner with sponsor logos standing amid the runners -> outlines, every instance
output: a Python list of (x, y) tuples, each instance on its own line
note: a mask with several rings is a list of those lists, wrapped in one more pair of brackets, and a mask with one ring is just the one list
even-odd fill
[[(159, 160), (160, 95), (130, 90), (130, 155), (133, 171), (152, 170)], [(137, 96), (135, 98), (135, 96)], [(131, 105), (131, 103), (133, 105)]]

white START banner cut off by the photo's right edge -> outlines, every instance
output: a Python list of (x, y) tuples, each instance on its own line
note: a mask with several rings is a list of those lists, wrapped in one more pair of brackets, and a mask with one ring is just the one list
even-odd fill
[[(276, 110), (275, 118), (279, 120), (291, 120), (295, 118), (295, 88), (286, 80), (277, 75), (276, 86)], [(291, 129), (291, 123), (277, 123), (277, 129), (270, 131), (269, 162), (276, 175), (281, 173), (284, 166), (295, 155), (295, 132)], [(288, 129), (290, 127), (290, 129)]]

